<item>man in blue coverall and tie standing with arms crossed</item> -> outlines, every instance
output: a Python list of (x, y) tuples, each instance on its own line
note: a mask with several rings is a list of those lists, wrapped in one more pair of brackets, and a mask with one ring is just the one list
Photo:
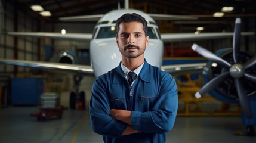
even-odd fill
[[(177, 115), (177, 86), (171, 74), (144, 59), (149, 43), (146, 20), (135, 13), (118, 18), (116, 43), (121, 63), (92, 87), (92, 129), (104, 142), (165, 142)], [(130, 77), (129, 71), (135, 74)]]

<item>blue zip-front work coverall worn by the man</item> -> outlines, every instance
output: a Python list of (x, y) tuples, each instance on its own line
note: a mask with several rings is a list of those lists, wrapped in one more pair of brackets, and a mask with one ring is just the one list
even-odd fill
[[(166, 132), (174, 126), (178, 108), (175, 79), (146, 60), (132, 87), (119, 65), (95, 80), (91, 94), (91, 126), (106, 143), (164, 143)], [(112, 108), (131, 110), (131, 126), (140, 133), (121, 136), (127, 124), (109, 116)]]

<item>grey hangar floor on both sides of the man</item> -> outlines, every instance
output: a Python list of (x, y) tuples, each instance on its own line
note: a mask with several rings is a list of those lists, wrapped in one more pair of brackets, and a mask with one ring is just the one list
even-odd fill
[[(66, 109), (61, 119), (51, 117), (45, 121), (38, 121), (30, 116), (32, 113), (39, 113), (39, 107), (0, 109), (0, 142), (103, 142), (101, 135), (91, 130), (88, 110)], [(256, 142), (256, 136), (235, 136), (237, 130), (245, 130), (239, 116), (177, 117), (166, 142)]]

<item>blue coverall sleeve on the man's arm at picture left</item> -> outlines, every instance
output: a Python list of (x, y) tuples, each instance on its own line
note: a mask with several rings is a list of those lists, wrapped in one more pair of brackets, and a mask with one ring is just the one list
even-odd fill
[(119, 138), (127, 128), (127, 124), (109, 116), (110, 102), (104, 87), (106, 87), (104, 81), (100, 79), (96, 79), (92, 86), (90, 100), (91, 127), (95, 133), (100, 135)]

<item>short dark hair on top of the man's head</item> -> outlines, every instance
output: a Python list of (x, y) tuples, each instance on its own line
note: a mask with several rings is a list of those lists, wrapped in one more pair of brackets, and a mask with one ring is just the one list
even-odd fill
[(137, 13), (127, 13), (122, 15), (116, 20), (116, 37), (118, 37), (118, 32), (119, 32), (119, 25), (120, 23), (129, 23), (129, 22), (139, 22), (143, 24), (143, 30), (145, 32), (145, 35), (147, 36), (147, 22), (144, 17)]

